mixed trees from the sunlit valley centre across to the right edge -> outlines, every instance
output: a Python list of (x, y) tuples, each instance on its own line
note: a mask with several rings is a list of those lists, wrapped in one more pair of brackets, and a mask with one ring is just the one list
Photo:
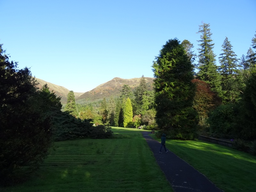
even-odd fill
[[(138, 87), (131, 91), (124, 85), (119, 97), (87, 103), (78, 101), (76, 105), (73, 101), (75, 116), (91, 118), (94, 124), (170, 131), (171, 138), (194, 139), (202, 134), (254, 140), (256, 35), (246, 55), (237, 58), (228, 37), (222, 44), (222, 53), (214, 54), (210, 24), (202, 23), (198, 33), (201, 34), (198, 53), (192, 51), (194, 45), (188, 40), (180, 43), (172, 39), (163, 45), (152, 66), (156, 78), (153, 90), (142, 75)], [(174, 42), (177, 45), (174, 46)], [(183, 52), (186, 55), (181, 55)], [(128, 111), (126, 105), (130, 105), (126, 104), (127, 98), (128, 103), (131, 102), (129, 117), (124, 114)], [(188, 126), (186, 119), (190, 117), (193, 124)], [(130, 123), (124, 124), (124, 118), (129, 118)]]

